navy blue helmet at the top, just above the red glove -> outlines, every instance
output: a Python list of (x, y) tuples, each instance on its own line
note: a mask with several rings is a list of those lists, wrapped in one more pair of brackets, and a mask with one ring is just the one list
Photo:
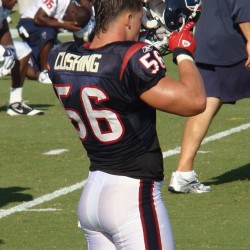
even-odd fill
[(166, 28), (178, 31), (188, 21), (197, 22), (201, 14), (201, 0), (165, 0)]

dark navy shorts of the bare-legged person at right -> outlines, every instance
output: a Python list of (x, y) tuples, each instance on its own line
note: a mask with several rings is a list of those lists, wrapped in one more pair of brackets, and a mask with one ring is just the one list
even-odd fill
[(217, 97), (222, 103), (235, 103), (250, 97), (250, 70), (245, 60), (230, 66), (197, 63), (207, 97)]

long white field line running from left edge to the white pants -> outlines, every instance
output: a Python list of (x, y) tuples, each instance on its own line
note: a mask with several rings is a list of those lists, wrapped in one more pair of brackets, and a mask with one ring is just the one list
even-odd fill
[(85, 182), (86, 182), (86, 180), (79, 182), (79, 183), (76, 183), (70, 187), (64, 187), (64, 188), (58, 189), (53, 193), (46, 194), (46, 195), (41, 196), (33, 201), (28, 201), (28, 202), (22, 203), (20, 205), (17, 205), (15, 207), (10, 208), (10, 209), (1, 210), (0, 211), (0, 219), (8, 216), (10, 214), (14, 214), (16, 212), (23, 212), (23, 211), (27, 210), (28, 208), (42, 204), (46, 201), (53, 200), (53, 199), (60, 197), (62, 195), (66, 195), (68, 193), (71, 193), (77, 189), (82, 188), (84, 186)]

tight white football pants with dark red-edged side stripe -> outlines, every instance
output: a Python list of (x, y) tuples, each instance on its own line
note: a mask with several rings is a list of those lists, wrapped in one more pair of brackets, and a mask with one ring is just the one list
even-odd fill
[(173, 250), (162, 182), (90, 172), (78, 204), (88, 250)]

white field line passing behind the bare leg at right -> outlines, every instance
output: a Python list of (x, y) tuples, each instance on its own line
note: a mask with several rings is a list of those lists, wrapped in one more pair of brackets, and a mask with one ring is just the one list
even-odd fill
[[(240, 125), (238, 127), (231, 128), (231, 129), (219, 132), (217, 134), (214, 134), (214, 135), (211, 135), (209, 137), (206, 137), (202, 141), (201, 144), (203, 145), (203, 144), (206, 144), (206, 143), (211, 142), (211, 141), (219, 140), (219, 139), (221, 139), (223, 137), (229, 136), (229, 135), (234, 134), (234, 133), (239, 133), (240, 131), (246, 130), (248, 128), (250, 128), (250, 123), (246, 123), (246, 124)], [(165, 151), (165, 152), (162, 153), (163, 154), (163, 158), (179, 154), (180, 150), (181, 150), (181, 147), (176, 147), (174, 149), (170, 149), (168, 151)]]

